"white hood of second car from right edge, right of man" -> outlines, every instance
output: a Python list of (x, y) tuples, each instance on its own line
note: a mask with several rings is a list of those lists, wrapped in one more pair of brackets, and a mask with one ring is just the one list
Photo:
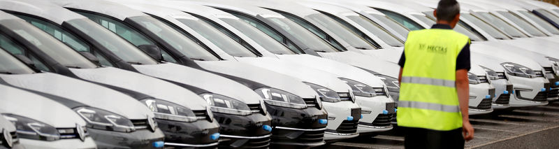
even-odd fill
[(496, 41), (473, 43), (470, 45), (470, 50), (483, 53), (484, 55), (499, 57), (507, 62), (521, 64), (532, 70), (542, 70), (542, 66), (551, 67), (551, 63), (544, 55), (506, 43)]

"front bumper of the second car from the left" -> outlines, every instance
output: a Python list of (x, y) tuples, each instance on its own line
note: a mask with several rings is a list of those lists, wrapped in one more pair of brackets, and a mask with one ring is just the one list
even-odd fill
[(101, 129), (87, 129), (87, 132), (95, 140), (98, 148), (155, 148), (153, 143), (164, 141), (165, 137), (159, 128), (155, 129), (155, 132), (148, 129), (139, 129), (129, 133)]

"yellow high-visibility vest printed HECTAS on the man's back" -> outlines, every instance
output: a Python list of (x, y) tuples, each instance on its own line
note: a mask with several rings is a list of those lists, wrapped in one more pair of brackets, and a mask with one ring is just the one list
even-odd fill
[(400, 82), (398, 125), (447, 131), (462, 127), (456, 58), (470, 38), (452, 29), (410, 31)]

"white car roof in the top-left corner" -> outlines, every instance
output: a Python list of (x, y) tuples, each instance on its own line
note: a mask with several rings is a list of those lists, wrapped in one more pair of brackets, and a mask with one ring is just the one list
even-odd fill
[(62, 22), (68, 20), (87, 18), (78, 13), (73, 13), (71, 10), (45, 1), (0, 0), (0, 3), (0, 9), (2, 10), (40, 16), (57, 24), (62, 24)]

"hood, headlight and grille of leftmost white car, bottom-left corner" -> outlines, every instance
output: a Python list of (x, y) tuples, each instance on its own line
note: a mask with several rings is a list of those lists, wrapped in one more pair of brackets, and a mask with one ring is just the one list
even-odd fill
[(85, 120), (57, 101), (8, 85), (0, 98), (0, 148), (97, 148)]

